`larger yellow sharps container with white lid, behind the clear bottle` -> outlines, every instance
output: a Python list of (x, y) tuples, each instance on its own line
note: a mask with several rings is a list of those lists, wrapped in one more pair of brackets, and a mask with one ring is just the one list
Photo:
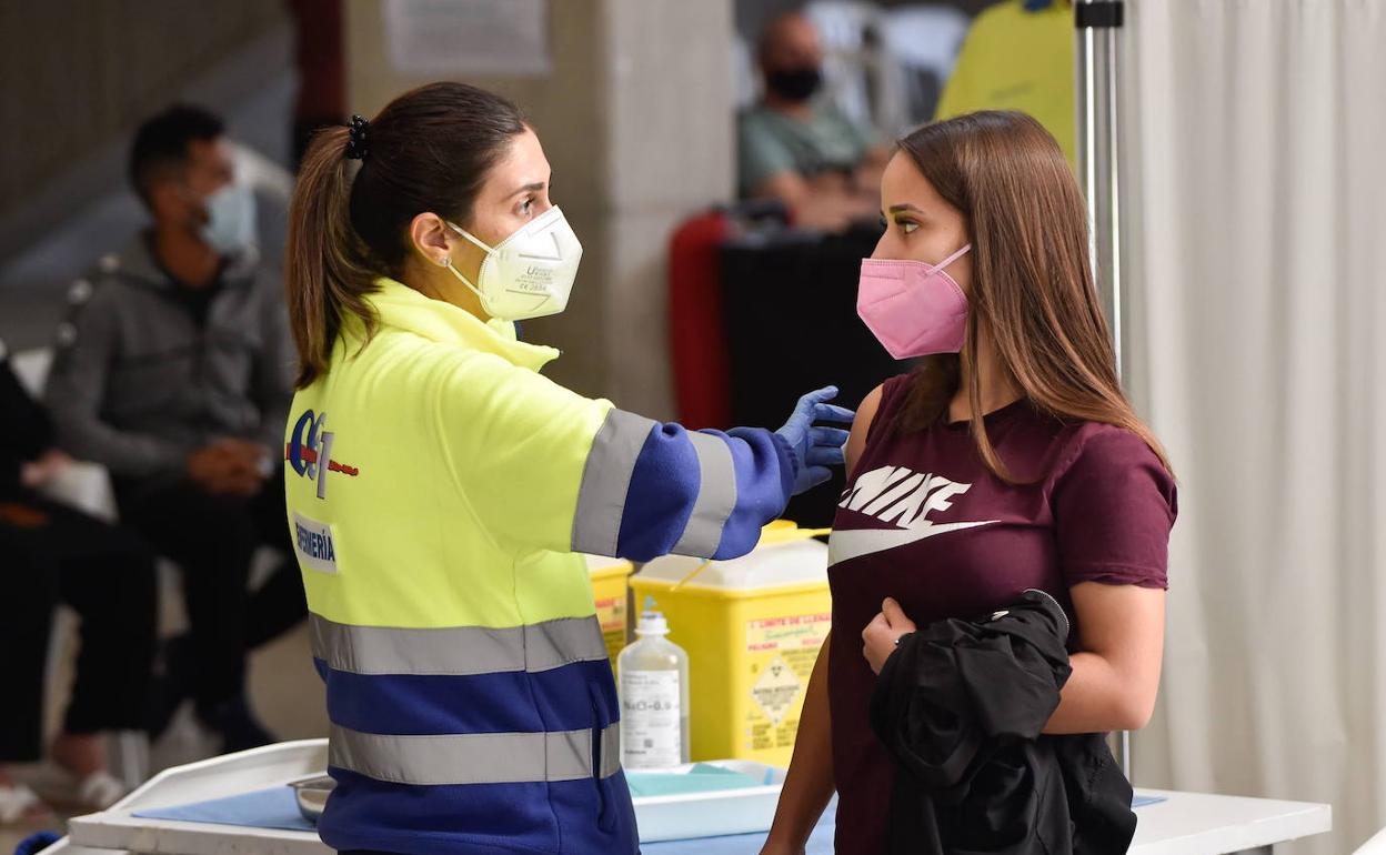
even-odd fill
[(631, 576), (689, 654), (692, 758), (787, 766), (804, 690), (832, 624), (822, 529), (768, 525), (733, 561), (665, 557)]

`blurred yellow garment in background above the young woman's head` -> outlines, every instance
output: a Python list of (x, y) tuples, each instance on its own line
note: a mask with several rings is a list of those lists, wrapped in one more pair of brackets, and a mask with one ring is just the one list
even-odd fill
[(979, 109), (1027, 112), (1059, 140), (1077, 169), (1074, 53), (1070, 3), (1055, 0), (1037, 12), (1026, 11), (1021, 0), (994, 6), (967, 32), (934, 118)]

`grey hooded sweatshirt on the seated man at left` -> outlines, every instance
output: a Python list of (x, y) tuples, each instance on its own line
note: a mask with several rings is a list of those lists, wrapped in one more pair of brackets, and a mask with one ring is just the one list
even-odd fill
[(281, 453), (294, 392), (283, 280), (254, 251), (226, 262), (198, 323), (144, 237), (72, 288), (46, 398), (69, 453), (116, 479), (177, 477), (220, 438)]

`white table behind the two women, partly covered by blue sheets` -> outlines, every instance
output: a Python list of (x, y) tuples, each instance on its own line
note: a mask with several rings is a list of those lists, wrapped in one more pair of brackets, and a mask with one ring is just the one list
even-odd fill
[[(266, 746), (159, 773), (101, 813), (72, 820), (72, 837), (43, 855), (333, 855), (317, 834), (132, 816), (136, 811), (249, 793), (312, 775), (327, 762), (327, 740)], [(1270, 852), (1277, 843), (1332, 827), (1329, 805), (1141, 790), (1168, 801), (1137, 808), (1139, 825), (1130, 855), (1224, 855)], [(830, 830), (826, 843), (832, 848)], [(718, 838), (718, 851), (760, 851), (761, 836)], [(712, 841), (708, 841), (711, 844)], [(726, 847), (725, 844), (732, 844)]]

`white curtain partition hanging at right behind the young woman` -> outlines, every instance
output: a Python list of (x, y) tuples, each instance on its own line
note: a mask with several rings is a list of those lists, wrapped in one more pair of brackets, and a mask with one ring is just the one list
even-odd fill
[(1386, 826), (1386, 0), (1132, 0), (1128, 384), (1181, 477), (1135, 777)]

